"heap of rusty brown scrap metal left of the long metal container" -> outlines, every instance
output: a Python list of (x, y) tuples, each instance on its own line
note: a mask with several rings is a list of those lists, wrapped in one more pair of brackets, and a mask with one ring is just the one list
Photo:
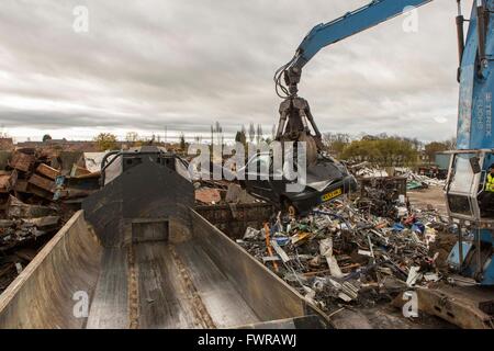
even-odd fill
[(7, 157), (0, 167), (0, 292), (70, 218), (77, 202), (99, 188), (99, 173), (78, 166), (78, 157), (40, 149), (3, 154)]

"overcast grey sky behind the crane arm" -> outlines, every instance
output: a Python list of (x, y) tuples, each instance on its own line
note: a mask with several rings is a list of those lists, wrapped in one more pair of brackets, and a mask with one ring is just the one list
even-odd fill
[[(274, 70), (315, 24), (368, 2), (2, 0), (0, 126), (18, 140), (207, 135), (214, 121), (270, 134)], [(89, 10), (87, 33), (74, 31), (77, 5)], [(323, 49), (300, 84), (319, 128), (453, 136), (456, 14), (456, 1), (436, 0), (418, 10), (416, 33), (402, 16)]]

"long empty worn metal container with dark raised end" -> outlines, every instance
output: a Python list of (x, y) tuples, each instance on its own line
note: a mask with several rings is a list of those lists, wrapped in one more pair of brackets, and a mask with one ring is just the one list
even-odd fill
[(0, 328), (327, 327), (327, 318), (193, 210), (158, 149), (120, 152), (0, 296)]

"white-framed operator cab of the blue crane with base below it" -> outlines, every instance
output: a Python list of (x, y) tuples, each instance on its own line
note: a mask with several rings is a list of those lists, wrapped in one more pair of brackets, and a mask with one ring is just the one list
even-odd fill
[(459, 228), (448, 263), (481, 285), (494, 285), (494, 202), (485, 201), (493, 163), (493, 149), (451, 151), (446, 184), (448, 214)]

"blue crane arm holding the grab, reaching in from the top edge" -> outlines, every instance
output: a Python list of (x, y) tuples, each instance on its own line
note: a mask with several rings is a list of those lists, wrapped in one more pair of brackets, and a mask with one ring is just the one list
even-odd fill
[(403, 13), (408, 7), (419, 7), (430, 1), (433, 0), (373, 0), (339, 19), (318, 24), (302, 41), (293, 59), (278, 70), (277, 75), (280, 71), (285, 72), (284, 80), (292, 90), (290, 94), (294, 94), (302, 68), (323, 47), (385, 22)]

